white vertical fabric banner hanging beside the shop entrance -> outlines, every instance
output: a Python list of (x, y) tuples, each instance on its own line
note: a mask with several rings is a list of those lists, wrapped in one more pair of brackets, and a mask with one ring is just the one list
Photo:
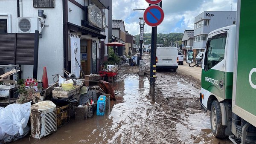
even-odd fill
[[(80, 76), (80, 37), (72, 35), (70, 37), (70, 49), (71, 49), (71, 73), (75, 74), (77, 78)], [(76, 60), (79, 62), (76, 62)]]

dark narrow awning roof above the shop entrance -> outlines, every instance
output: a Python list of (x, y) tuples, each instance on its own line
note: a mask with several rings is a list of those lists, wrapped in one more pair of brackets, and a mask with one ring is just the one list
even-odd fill
[(82, 35), (92, 35), (92, 37), (98, 37), (99, 39), (106, 39), (107, 36), (100, 34), (97, 31), (94, 31), (92, 29), (89, 28), (84, 28), (81, 26), (77, 26), (73, 23), (67, 23), (68, 29), (74, 31), (74, 32), (81, 32), (83, 33)]

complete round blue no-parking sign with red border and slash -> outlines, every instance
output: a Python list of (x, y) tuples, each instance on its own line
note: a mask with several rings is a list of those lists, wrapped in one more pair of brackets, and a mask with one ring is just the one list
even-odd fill
[(158, 26), (163, 22), (164, 13), (160, 6), (149, 6), (144, 12), (144, 21), (148, 26)]

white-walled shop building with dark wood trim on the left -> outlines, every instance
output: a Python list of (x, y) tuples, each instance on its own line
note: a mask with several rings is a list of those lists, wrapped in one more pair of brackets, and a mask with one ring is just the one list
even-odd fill
[[(112, 0), (0, 0), (0, 6), (0, 21), (7, 22), (10, 33), (20, 32), (19, 18), (40, 18), (38, 80), (44, 66), (49, 83), (53, 83), (58, 78), (54, 80), (52, 75), (64, 75), (62, 69), (72, 72), (75, 58), (85, 75), (99, 72), (100, 65), (108, 60), (105, 44), (112, 38)], [(40, 17), (38, 10), (44, 10), (45, 17)], [(29, 24), (32, 28), (38, 22)], [(32, 69), (22, 65), (21, 78), (31, 78)]]

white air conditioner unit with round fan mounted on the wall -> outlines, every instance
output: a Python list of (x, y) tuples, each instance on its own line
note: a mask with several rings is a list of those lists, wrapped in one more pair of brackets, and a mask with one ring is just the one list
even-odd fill
[(41, 18), (38, 17), (17, 17), (17, 26), (19, 33), (35, 33), (42, 32)]

